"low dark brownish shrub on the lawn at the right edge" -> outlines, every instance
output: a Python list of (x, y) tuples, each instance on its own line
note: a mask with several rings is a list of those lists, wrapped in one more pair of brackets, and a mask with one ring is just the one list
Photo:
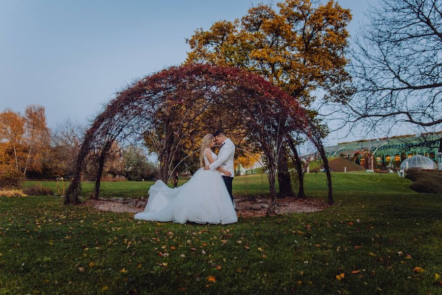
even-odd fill
[(442, 194), (442, 173), (409, 169), (406, 178), (413, 181), (410, 188), (419, 193)]

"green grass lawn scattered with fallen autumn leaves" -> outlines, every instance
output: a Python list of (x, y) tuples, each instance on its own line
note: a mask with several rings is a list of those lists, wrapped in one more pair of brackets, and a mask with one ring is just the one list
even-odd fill
[[(244, 178), (236, 194), (268, 191), (260, 176)], [(325, 199), (325, 181), (308, 175), (307, 195)], [(103, 195), (150, 184), (105, 182)], [(442, 196), (388, 174), (334, 173), (333, 184), (338, 207), (225, 226), (1, 197), (0, 294), (442, 294)]]

